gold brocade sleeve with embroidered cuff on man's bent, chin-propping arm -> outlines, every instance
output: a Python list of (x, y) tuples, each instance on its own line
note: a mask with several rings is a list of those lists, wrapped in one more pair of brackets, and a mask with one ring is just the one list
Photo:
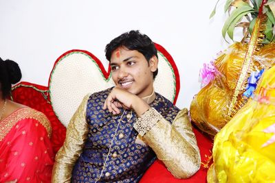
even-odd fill
[(186, 108), (178, 112), (172, 125), (150, 108), (134, 128), (175, 178), (189, 178), (199, 170), (201, 157)]

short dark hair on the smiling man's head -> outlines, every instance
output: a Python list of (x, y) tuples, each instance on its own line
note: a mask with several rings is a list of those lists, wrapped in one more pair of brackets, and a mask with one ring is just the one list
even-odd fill
[[(105, 47), (105, 56), (107, 60), (111, 60), (111, 53), (119, 47), (126, 47), (129, 50), (136, 50), (146, 58), (147, 62), (153, 57), (157, 57), (157, 49), (154, 42), (145, 34), (141, 34), (138, 30), (131, 30), (125, 32), (117, 38), (111, 40), (111, 42)], [(153, 72), (153, 79), (157, 75), (157, 70)]]

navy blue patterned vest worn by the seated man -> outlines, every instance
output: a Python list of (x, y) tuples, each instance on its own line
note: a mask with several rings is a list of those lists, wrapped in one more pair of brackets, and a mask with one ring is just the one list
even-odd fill
[[(122, 116), (123, 111), (113, 115), (108, 110), (102, 110), (110, 91), (111, 88), (89, 97), (86, 117), (89, 134), (83, 153), (74, 166), (72, 182), (96, 182), (99, 177), (98, 182), (138, 182), (156, 158), (150, 147), (136, 141), (138, 133), (133, 128), (135, 112), (125, 110)], [(170, 123), (179, 112), (173, 103), (157, 93), (150, 106)]]

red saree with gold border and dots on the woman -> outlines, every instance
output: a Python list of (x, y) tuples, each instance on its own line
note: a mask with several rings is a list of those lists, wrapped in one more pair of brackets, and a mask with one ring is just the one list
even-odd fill
[(50, 182), (54, 153), (50, 122), (21, 108), (0, 121), (0, 182)]

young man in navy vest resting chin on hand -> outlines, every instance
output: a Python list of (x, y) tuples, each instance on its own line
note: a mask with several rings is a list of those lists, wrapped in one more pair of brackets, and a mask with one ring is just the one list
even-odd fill
[(56, 155), (52, 182), (138, 182), (156, 156), (176, 178), (193, 175), (200, 156), (188, 110), (153, 89), (154, 43), (131, 31), (105, 52), (115, 87), (83, 99)]

